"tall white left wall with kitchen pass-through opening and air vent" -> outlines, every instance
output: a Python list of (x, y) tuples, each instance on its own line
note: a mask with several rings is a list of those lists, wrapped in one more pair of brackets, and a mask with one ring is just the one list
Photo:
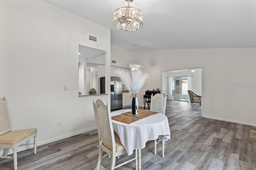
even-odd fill
[(0, 11), (0, 96), (13, 129), (38, 128), (38, 145), (96, 129), (92, 100), (110, 95), (78, 97), (71, 86), (78, 86), (78, 45), (106, 51), (110, 84), (110, 29), (41, 0), (0, 1)]

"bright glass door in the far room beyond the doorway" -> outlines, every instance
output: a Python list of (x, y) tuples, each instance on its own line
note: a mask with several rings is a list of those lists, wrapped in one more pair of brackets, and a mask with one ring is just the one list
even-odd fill
[(174, 77), (173, 78), (172, 100), (188, 100), (188, 77)]

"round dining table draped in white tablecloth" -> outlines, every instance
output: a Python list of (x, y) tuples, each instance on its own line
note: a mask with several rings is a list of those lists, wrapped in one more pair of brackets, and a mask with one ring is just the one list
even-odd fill
[[(113, 111), (111, 117), (128, 111), (132, 110)], [(167, 141), (171, 135), (168, 119), (162, 113), (150, 115), (130, 124), (112, 120), (112, 125), (128, 155), (131, 155), (135, 149), (138, 149), (139, 170), (141, 169), (141, 149), (146, 147), (146, 142), (158, 138)]]

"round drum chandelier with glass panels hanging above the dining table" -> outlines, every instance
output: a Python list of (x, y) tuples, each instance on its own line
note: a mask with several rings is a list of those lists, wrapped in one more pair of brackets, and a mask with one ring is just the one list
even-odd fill
[(136, 31), (142, 27), (143, 14), (134, 7), (130, 7), (133, 0), (125, 0), (128, 6), (118, 8), (114, 12), (114, 26), (123, 31)]

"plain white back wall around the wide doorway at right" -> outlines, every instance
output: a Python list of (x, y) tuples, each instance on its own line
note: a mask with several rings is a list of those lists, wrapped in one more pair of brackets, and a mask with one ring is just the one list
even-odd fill
[(161, 71), (202, 68), (203, 117), (256, 126), (256, 87), (233, 87), (256, 83), (255, 54), (256, 48), (136, 51), (150, 75), (142, 93), (161, 85)]

